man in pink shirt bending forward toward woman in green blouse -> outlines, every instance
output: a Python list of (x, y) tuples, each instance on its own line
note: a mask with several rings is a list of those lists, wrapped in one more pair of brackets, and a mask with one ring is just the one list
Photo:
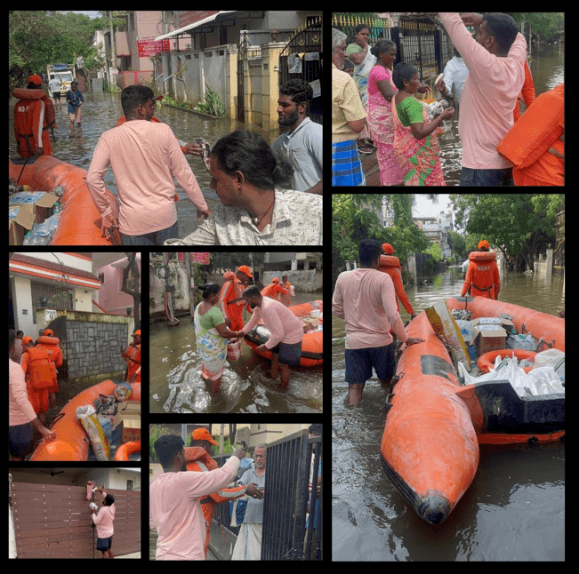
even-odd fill
[(253, 315), (243, 330), (237, 331), (237, 336), (243, 337), (260, 319), (263, 321), (270, 335), (257, 350), (271, 351), (271, 376), (276, 379), (281, 371), (281, 386), (285, 388), (289, 384), (290, 365), (298, 365), (302, 360), (302, 322), (283, 303), (263, 297), (255, 285), (247, 287), (243, 296)]

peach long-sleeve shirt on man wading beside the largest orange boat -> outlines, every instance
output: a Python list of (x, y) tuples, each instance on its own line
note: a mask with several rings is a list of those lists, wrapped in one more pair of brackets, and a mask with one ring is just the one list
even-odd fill
[(394, 283), (378, 269), (362, 267), (338, 275), (332, 310), (346, 324), (347, 349), (386, 347), (393, 340), (390, 329), (403, 343), (408, 339)]

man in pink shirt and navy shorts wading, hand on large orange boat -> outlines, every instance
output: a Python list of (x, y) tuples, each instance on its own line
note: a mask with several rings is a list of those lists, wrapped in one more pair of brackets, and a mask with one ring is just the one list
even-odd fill
[(382, 245), (364, 239), (358, 245), (360, 268), (344, 271), (335, 284), (332, 310), (346, 325), (346, 404), (360, 402), (366, 380), (376, 371), (382, 385), (394, 374), (394, 344), (390, 329), (406, 345), (424, 339), (408, 337), (396, 305), (390, 275), (378, 271)]

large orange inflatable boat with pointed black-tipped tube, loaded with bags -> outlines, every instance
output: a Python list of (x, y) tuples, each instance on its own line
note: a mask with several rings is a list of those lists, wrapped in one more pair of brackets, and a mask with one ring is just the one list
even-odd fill
[[(483, 297), (447, 299), (472, 317), (509, 315), (538, 351), (565, 351), (565, 322)], [(423, 343), (403, 347), (385, 409), (382, 466), (423, 520), (443, 522), (473, 481), (478, 444), (553, 442), (565, 434), (565, 395), (520, 397), (507, 380), (463, 386), (445, 344), (424, 312), (408, 324)]]

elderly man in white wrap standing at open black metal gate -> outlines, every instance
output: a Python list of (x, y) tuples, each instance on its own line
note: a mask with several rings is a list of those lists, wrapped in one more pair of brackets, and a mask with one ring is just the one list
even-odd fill
[(261, 498), (250, 498), (245, 509), (244, 522), (237, 534), (237, 542), (231, 560), (261, 560), (261, 533), (263, 527), (263, 493), (265, 488), (265, 458), (267, 445), (261, 442), (255, 447), (255, 467), (246, 470), (241, 482), (257, 484)]

